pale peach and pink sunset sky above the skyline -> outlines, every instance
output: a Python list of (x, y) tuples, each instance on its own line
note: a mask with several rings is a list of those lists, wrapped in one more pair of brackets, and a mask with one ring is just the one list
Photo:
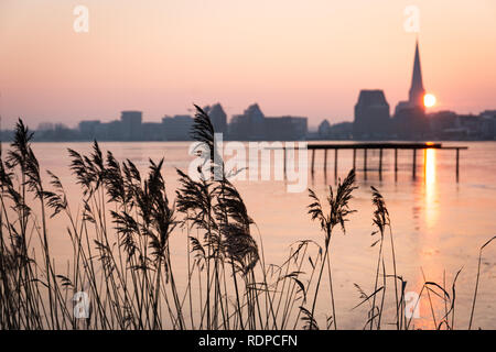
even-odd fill
[(494, 0), (0, 0), (2, 128), (214, 102), (352, 121), (360, 89), (384, 89), (391, 111), (407, 99), (416, 36), (432, 109), (478, 113), (496, 109), (495, 14)]

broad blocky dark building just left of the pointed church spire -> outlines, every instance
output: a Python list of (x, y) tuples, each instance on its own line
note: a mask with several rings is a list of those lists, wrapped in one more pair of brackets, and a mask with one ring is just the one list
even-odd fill
[(389, 103), (382, 90), (360, 90), (355, 105), (353, 136), (355, 139), (384, 139), (389, 133)]

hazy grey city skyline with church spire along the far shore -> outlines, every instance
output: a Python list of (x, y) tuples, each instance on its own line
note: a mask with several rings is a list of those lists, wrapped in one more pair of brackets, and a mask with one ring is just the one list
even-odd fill
[[(408, 100), (399, 101), (393, 113), (381, 89), (362, 89), (355, 105), (354, 121), (331, 124), (324, 119), (316, 133), (309, 130), (306, 117), (267, 117), (257, 102), (230, 119), (217, 102), (203, 111), (212, 120), (216, 133), (226, 140), (291, 141), (291, 140), (495, 140), (496, 110), (484, 110), (478, 116), (457, 114), (445, 110), (428, 112), (435, 105), (435, 96), (423, 85), (419, 40), (416, 40), (411, 85)], [(195, 106), (195, 109), (198, 109)], [(203, 112), (202, 111), (202, 112)], [(190, 114), (164, 116), (162, 122), (143, 121), (140, 110), (123, 110), (119, 120), (82, 120), (76, 129), (65, 124), (43, 122), (36, 136), (41, 141), (185, 141), (193, 125)], [(1, 132), (1, 131), (0, 131)], [(2, 139), (12, 139), (9, 132)]]

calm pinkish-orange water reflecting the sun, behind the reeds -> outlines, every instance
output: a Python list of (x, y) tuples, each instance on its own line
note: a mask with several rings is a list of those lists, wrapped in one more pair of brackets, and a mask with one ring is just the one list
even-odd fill
[[(443, 143), (450, 145), (453, 143)], [(425, 280), (443, 283), (451, 289), (455, 273), (463, 267), (456, 284), (455, 328), (466, 328), (475, 285), (479, 246), (496, 234), (496, 142), (462, 142), (467, 151), (461, 151), (460, 182), (455, 177), (455, 152), (428, 150), (418, 152), (417, 177), (412, 177), (412, 152), (399, 152), (399, 170), (395, 175), (393, 152), (384, 152), (384, 170), (379, 177), (379, 151), (368, 152), (368, 172), (363, 172), (363, 155), (357, 153), (357, 179), (359, 188), (354, 194), (352, 208), (357, 212), (346, 224), (346, 234), (336, 232), (332, 239), (332, 264), (335, 280), (336, 310), (339, 328), (360, 329), (366, 321), (364, 309), (352, 310), (359, 302), (354, 284), (371, 293), (377, 261), (377, 248), (371, 215), (374, 211), (370, 186), (377, 187), (386, 198), (392, 221), (398, 274), (408, 282), (407, 290), (419, 292)], [(174, 198), (179, 186), (175, 168), (187, 169), (192, 156), (190, 143), (101, 143), (116, 158), (129, 158), (141, 170), (148, 160), (164, 157), (164, 177), (169, 196)], [(82, 153), (90, 151), (90, 143), (35, 143), (33, 148), (43, 169), (58, 175), (68, 191), (73, 207), (80, 207), (80, 191), (68, 169), (66, 148)], [(336, 176), (345, 177), (353, 165), (353, 152), (339, 151), (338, 173), (334, 175), (334, 153), (328, 153), (328, 170), (324, 173), (324, 152), (317, 152), (315, 175), (309, 173), (309, 187), (325, 197), (328, 185), (335, 186)], [(311, 239), (323, 243), (319, 224), (308, 216), (308, 193), (288, 193), (282, 180), (236, 182), (250, 216), (263, 238), (268, 263), (282, 263), (289, 246), (298, 240)], [(50, 222), (52, 254), (68, 260), (69, 242), (65, 223), (61, 219)], [(256, 235), (258, 238), (258, 234)], [(176, 231), (173, 237), (174, 255), (185, 263), (185, 234)], [(475, 327), (496, 328), (496, 245), (487, 248), (483, 256)], [(182, 260), (182, 261), (181, 261)], [(177, 271), (184, 271), (175, 264)], [(328, 289), (328, 288), (325, 288)], [(326, 296), (325, 294), (323, 296)], [(317, 317), (330, 314), (325, 298)], [(444, 306), (435, 302), (439, 315)], [(428, 299), (420, 302), (420, 319), (416, 327), (432, 328)]]

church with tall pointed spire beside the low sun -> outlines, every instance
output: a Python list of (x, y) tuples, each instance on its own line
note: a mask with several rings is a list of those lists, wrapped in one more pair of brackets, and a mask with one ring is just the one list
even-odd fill
[(409, 99), (398, 102), (395, 109), (393, 130), (400, 139), (422, 139), (429, 132), (423, 97), (422, 68), (420, 64), (419, 42), (416, 42), (413, 73), (409, 90)]

